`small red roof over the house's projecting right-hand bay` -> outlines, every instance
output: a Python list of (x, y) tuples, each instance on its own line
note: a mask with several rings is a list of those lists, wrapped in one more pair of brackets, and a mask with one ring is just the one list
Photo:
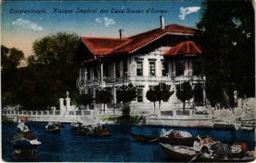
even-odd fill
[(195, 42), (187, 41), (180, 42), (177, 46), (174, 46), (169, 51), (166, 51), (165, 55), (201, 55), (201, 47), (196, 45)]

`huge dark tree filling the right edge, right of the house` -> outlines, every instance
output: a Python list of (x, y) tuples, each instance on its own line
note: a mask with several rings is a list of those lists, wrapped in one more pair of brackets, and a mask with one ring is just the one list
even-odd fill
[[(218, 12), (216, 12), (218, 11)], [(206, 93), (211, 104), (229, 106), (234, 90), (243, 97), (255, 95), (254, 7), (251, 1), (202, 2), (197, 28), (205, 63)]]

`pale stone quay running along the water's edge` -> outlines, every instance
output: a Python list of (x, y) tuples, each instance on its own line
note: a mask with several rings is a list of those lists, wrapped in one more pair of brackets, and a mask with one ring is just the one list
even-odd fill
[[(17, 121), (16, 116), (5, 116), (5, 121)], [(63, 123), (72, 123), (81, 121), (85, 125), (93, 124), (120, 124), (117, 121), (117, 116), (106, 117), (85, 117), (85, 116), (42, 116), (42, 117), (27, 117), (28, 121), (56, 121)], [(189, 127), (214, 130), (254, 130), (253, 127), (243, 128), (236, 121), (214, 121), (210, 117), (144, 117), (139, 118), (141, 121), (136, 121), (138, 126), (169, 126), (169, 127)], [(120, 122), (120, 121), (119, 121)], [(135, 124), (135, 123), (133, 123)]]

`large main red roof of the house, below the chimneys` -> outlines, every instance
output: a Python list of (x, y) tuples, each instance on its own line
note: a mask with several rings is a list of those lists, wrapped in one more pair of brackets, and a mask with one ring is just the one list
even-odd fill
[(197, 29), (192, 29), (179, 24), (170, 24), (167, 25), (165, 29), (153, 29), (124, 39), (109, 37), (82, 37), (82, 41), (94, 55), (112, 55), (132, 53), (166, 34), (190, 35), (198, 32), (199, 30)]

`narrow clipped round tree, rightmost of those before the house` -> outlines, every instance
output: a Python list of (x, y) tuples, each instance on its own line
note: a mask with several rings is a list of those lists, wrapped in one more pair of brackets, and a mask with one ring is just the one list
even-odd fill
[(180, 85), (176, 86), (176, 95), (179, 100), (183, 102), (183, 110), (185, 110), (186, 100), (192, 99), (193, 91), (189, 81), (185, 81)]

